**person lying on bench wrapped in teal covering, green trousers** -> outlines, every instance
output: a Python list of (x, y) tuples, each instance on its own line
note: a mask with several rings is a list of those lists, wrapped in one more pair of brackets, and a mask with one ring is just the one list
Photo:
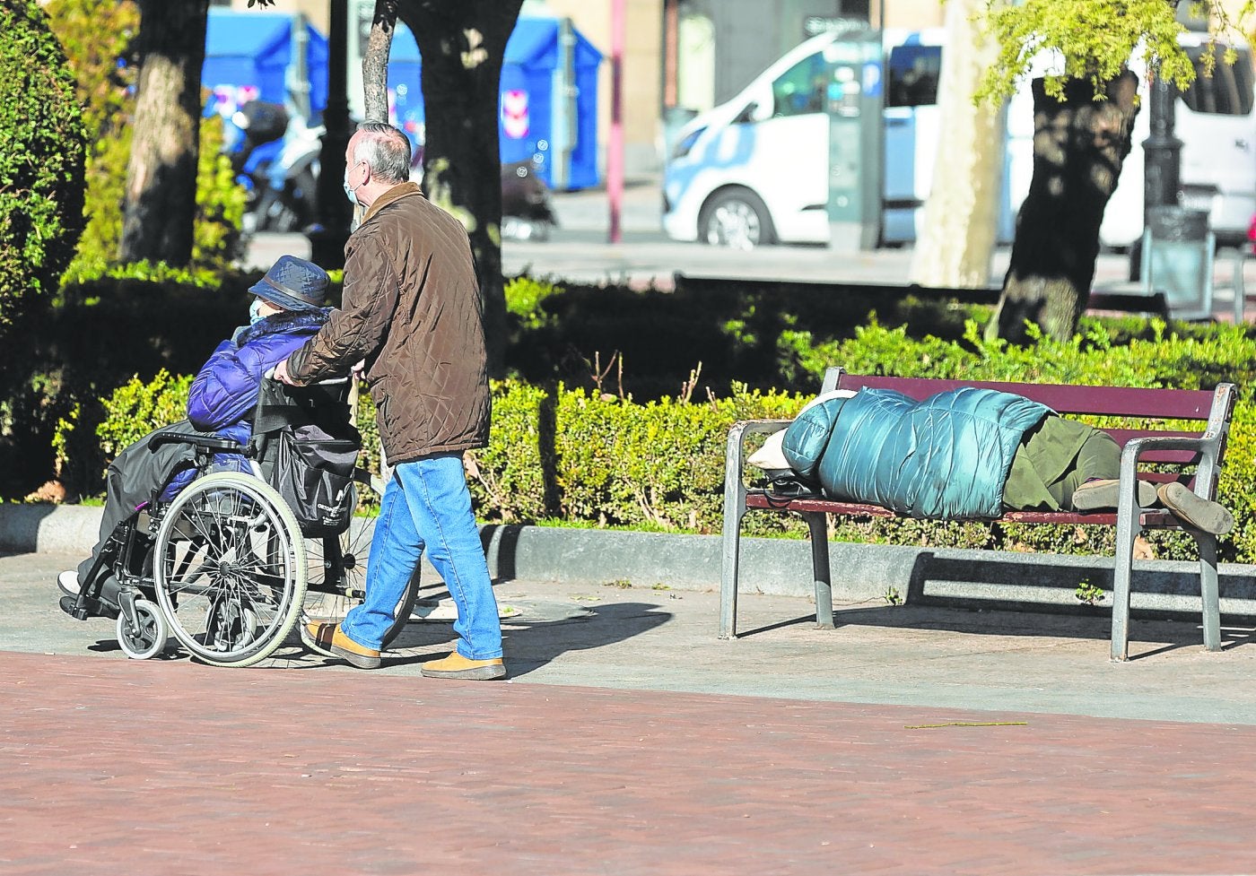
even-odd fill
[[(1115, 508), (1120, 447), (1021, 395), (972, 387), (916, 400), (889, 389), (826, 394), (785, 429), (788, 466), (824, 494), (934, 520)], [(751, 459), (754, 462), (754, 459)], [(1223, 535), (1233, 516), (1181, 483), (1137, 484), (1184, 525)]]

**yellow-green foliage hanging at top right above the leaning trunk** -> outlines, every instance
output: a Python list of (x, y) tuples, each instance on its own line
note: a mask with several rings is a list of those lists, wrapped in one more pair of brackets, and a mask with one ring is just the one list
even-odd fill
[[(1161, 75), (1186, 88), (1194, 79), (1194, 67), (1177, 41), (1183, 28), (1176, 6), (1166, 0), (986, 0), (986, 24), (1000, 53), (977, 98), (1011, 97), (1041, 51), (1055, 53), (1059, 59), (1045, 83), (1048, 94), (1055, 97), (1063, 94), (1065, 78), (1089, 79), (1095, 93), (1102, 94), (1104, 83), (1120, 74), (1135, 49), (1147, 69), (1158, 67)], [(1215, 34), (1231, 41), (1242, 36), (1253, 8), (1256, 4), (1243, 0), (1231, 16), (1220, 0), (1192, 4), (1192, 11), (1213, 21)], [(1211, 54), (1205, 59), (1211, 63)], [(1226, 61), (1233, 60), (1231, 50)]]

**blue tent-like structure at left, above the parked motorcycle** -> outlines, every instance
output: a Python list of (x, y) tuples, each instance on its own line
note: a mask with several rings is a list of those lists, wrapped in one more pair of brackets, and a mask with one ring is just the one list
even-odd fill
[[(250, 97), (286, 103), (288, 68), (293, 64), (294, 25), (304, 19), (286, 13), (234, 13), (211, 9), (205, 35), (201, 83), (217, 99)], [(305, 24), (305, 74), (310, 84), (310, 112), (327, 107), (327, 38)]]

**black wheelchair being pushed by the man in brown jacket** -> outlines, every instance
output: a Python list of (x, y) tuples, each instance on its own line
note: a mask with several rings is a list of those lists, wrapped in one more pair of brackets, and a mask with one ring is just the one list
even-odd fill
[[(154, 435), (151, 448), (190, 447), (195, 479), (161, 502), (178, 473), (170, 472), (153, 499), (116, 527), (78, 596), (65, 596), (62, 609), (79, 620), (116, 616), (118, 644), (129, 658), (161, 654), (173, 636), (195, 659), (220, 666), (251, 666), (271, 656), (298, 625), (343, 619), (365, 595), (373, 520), (354, 516), (353, 508), (357, 491), (372, 488), (371, 477), (353, 466), (349, 511), (328, 532), (298, 521), (268, 482), (274, 478), (268, 463), (280, 430), (311, 423), (342, 442), (352, 435), (355, 461), (360, 438), (349, 425), (347, 389), (348, 380), (298, 388), (264, 379), (246, 444), (177, 432)], [(249, 473), (214, 471), (216, 454), (241, 457)], [(311, 528), (318, 535), (306, 535)], [(412, 581), (386, 646), (409, 620), (416, 592)]]

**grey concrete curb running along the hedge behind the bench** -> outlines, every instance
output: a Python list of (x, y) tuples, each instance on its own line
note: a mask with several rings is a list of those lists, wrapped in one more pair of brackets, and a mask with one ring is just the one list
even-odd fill
[[(100, 526), (99, 507), (0, 505), (0, 551), (85, 556)], [(600, 586), (629, 581), (671, 590), (718, 590), (720, 536), (485, 525), (480, 530), (496, 580)], [(1088, 611), (1074, 596), (1081, 582), (1112, 590), (1110, 557), (1007, 553), (835, 542), (829, 546), (834, 600)], [(423, 576), (437, 579), (423, 564)], [(810, 545), (744, 538), (742, 592), (809, 597)], [(1197, 614), (1198, 565), (1135, 564), (1133, 606)], [(1222, 564), (1221, 610), (1256, 616), (1256, 566)], [(1105, 600), (1107, 602), (1107, 600)]]

